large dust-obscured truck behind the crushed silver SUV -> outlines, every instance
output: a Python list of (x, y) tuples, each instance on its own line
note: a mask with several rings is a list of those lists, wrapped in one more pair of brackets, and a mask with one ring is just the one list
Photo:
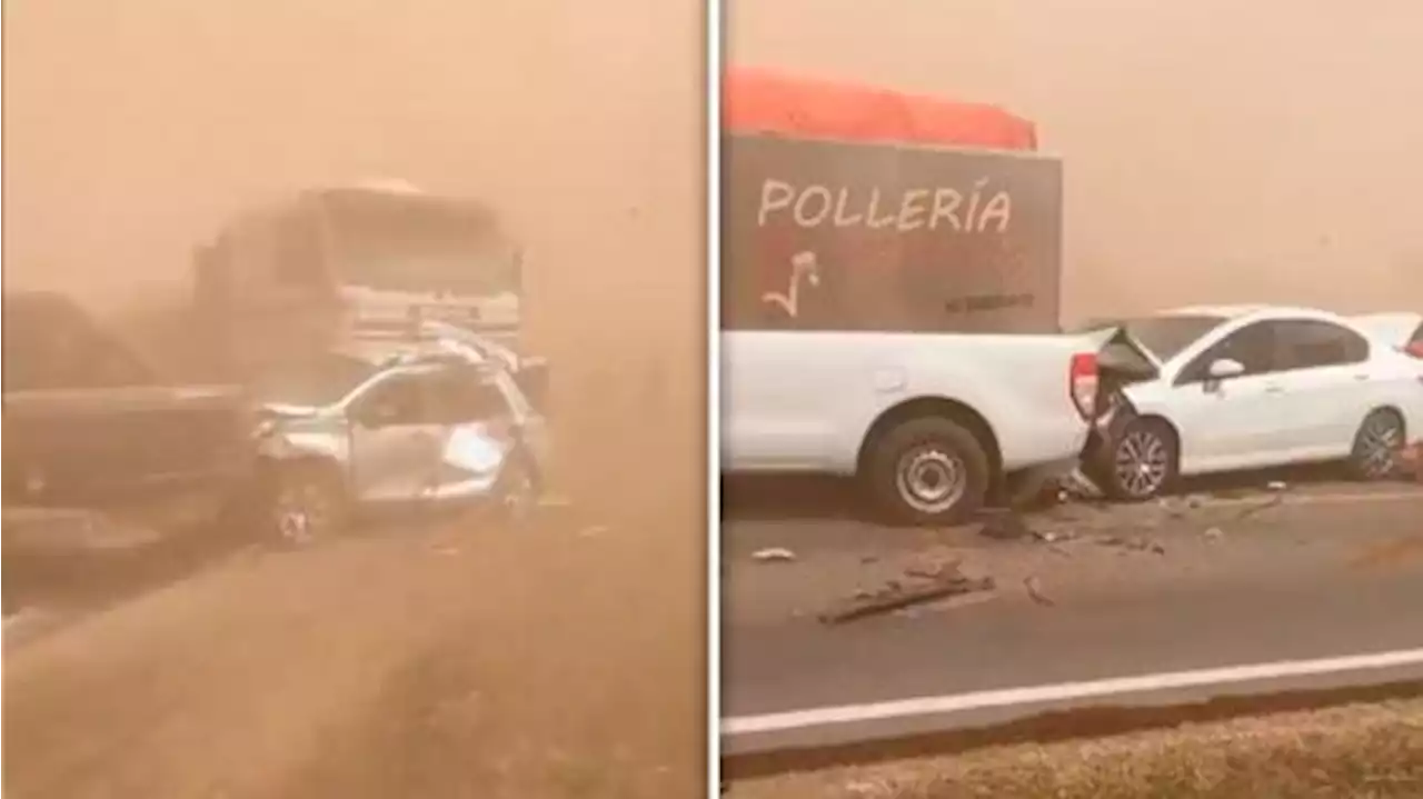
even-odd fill
[(401, 182), (250, 209), (199, 247), (195, 273), (206, 350), (239, 378), (357, 326), (437, 320), (518, 348), (518, 245), (484, 203)]

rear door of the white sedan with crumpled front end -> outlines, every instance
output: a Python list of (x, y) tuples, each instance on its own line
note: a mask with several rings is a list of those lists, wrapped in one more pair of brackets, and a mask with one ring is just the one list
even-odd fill
[(1284, 421), (1279, 449), (1291, 461), (1342, 458), (1363, 417), (1382, 404), (1387, 387), (1368, 368), (1369, 341), (1348, 327), (1318, 318), (1276, 326)]

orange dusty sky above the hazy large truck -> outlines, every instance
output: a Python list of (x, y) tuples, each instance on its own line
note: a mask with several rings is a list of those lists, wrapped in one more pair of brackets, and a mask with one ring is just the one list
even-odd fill
[(401, 178), (505, 212), (535, 324), (692, 345), (702, 18), (687, 0), (9, 0), (10, 281), (91, 304), (182, 286), (245, 205)]

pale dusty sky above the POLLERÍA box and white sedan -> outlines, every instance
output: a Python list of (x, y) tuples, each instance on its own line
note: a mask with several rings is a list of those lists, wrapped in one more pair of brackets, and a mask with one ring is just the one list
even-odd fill
[(1035, 119), (1064, 159), (1069, 317), (1416, 310), (1420, 24), (1406, 0), (731, 0), (727, 61)]

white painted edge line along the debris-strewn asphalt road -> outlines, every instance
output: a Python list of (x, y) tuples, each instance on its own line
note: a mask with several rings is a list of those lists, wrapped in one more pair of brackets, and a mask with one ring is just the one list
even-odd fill
[(1128, 694), (1170, 691), (1178, 688), (1231, 685), (1261, 680), (1282, 680), (1289, 677), (1316, 677), (1322, 674), (1342, 674), (1349, 671), (1379, 671), (1407, 665), (1423, 665), (1423, 650), (1399, 650), (1390, 653), (1321, 660), (1261, 663), (1197, 671), (1117, 677), (1087, 682), (1063, 682), (1059, 685), (976, 691), (972, 694), (952, 694), (945, 697), (918, 697), (865, 705), (842, 705), (766, 715), (731, 717), (721, 719), (721, 735), (733, 736), (754, 735), (760, 732), (785, 732), (791, 729), (807, 729), (840, 724), (943, 715), (986, 708), (1010, 708), (1017, 705), (1063, 702), (1072, 699), (1121, 697)]

